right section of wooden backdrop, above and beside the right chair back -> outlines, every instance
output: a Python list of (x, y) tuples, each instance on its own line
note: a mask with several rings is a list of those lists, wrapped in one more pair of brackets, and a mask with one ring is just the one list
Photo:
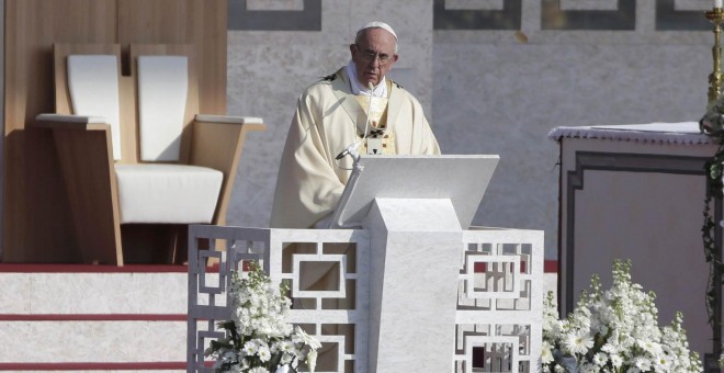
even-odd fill
[(226, 0), (118, 0), (118, 43), (192, 44), (203, 114), (226, 114)]

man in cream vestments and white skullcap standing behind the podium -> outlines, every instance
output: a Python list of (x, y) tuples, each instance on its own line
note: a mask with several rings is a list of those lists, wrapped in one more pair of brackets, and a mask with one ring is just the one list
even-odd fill
[[(357, 33), (350, 52), (347, 66), (298, 99), (279, 169), (273, 228), (312, 228), (329, 217), (352, 169), (351, 157), (336, 158), (350, 145), (359, 142), (365, 154), (369, 138), (377, 136), (383, 154), (440, 154), (420, 103), (385, 77), (398, 59), (395, 31), (371, 22)], [(367, 121), (372, 108), (359, 99), (364, 95), (382, 99), (372, 101), (382, 103), (378, 121)]]

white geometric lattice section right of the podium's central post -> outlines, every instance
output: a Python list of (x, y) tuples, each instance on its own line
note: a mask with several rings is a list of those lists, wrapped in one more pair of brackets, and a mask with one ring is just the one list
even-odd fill
[(538, 372), (543, 233), (463, 233), (453, 372)]

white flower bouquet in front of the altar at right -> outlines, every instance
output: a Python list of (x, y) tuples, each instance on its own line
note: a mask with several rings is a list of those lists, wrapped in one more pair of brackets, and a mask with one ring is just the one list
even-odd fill
[(682, 316), (659, 327), (654, 293), (631, 282), (631, 262), (616, 260), (613, 285), (602, 292), (591, 278), (576, 309), (559, 320), (548, 294), (543, 315), (543, 372), (555, 373), (688, 373), (702, 372), (697, 352), (689, 351)]

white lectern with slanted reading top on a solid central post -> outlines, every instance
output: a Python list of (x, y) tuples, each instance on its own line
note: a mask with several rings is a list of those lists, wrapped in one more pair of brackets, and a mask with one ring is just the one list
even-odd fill
[(463, 229), (498, 160), (360, 159), (331, 226), (370, 229), (370, 372), (450, 371)]

